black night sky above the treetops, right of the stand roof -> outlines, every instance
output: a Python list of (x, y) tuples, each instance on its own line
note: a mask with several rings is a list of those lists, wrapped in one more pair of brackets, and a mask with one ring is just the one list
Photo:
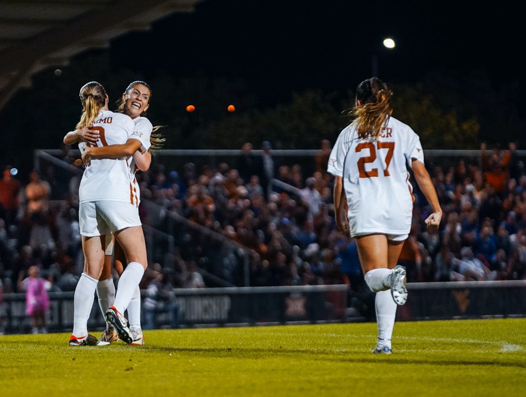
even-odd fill
[[(503, 2), (229, 1), (200, 2), (151, 32), (130, 33), (112, 44), (114, 67), (242, 77), (268, 100), (291, 90), (354, 88), (371, 75), (386, 82), (417, 82), (430, 72), (487, 72), (495, 85), (523, 82), (524, 34), (517, 6)], [(469, 4), (472, 4), (470, 6)], [(390, 36), (397, 48), (381, 39)]]

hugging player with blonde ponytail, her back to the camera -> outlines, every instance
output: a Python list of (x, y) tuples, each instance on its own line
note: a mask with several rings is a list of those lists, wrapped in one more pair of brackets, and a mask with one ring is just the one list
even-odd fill
[[(102, 85), (97, 82), (84, 85), (80, 90), (80, 100), (84, 110), (77, 130), (90, 126), (92, 131), (97, 131), (97, 146), (124, 145), (126, 156), (133, 155), (139, 147), (149, 147), (149, 140), (141, 141), (139, 135), (134, 135), (135, 125), (129, 116), (108, 110), (108, 96)], [(66, 140), (65, 137), (64, 141)], [(89, 152), (90, 145), (93, 144), (88, 144), (83, 155)], [(75, 289), (73, 334), (69, 340), (71, 345), (97, 343), (87, 333), (87, 320), (92, 306), (91, 299), (103, 269), (105, 236), (110, 233), (115, 235), (128, 260), (120, 277), (115, 302), (106, 311), (106, 318), (114, 324), (119, 338), (127, 343), (131, 343), (133, 338), (128, 321), (122, 313), (128, 307), (147, 267), (144, 234), (128, 158), (108, 158), (112, 157), (110, 155), (105, 157), (96, 159), (83, 156), (87, 167), (79, 187), (79, 223), (85, 265)]]

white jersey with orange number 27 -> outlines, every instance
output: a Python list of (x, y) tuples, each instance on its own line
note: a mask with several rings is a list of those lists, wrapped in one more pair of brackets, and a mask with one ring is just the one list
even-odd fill
[(412, 159), (424, 161), (420, 138), (394, 117), (376, 141), (360, 139), (352, 124), (341, 131), (327, 171), (342, 177), (351, 236), (409, 233), (413, 195), (407, 167)]

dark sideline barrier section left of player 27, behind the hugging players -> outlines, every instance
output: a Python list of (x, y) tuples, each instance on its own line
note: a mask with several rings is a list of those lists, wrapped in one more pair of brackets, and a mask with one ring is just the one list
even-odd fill
[[(174, 289), (177, 319), (168, 310), (158, 310), (158, 327), (264, 325), (346, 321), (346, 285), (227, 287)], [(145, 291), (143, 291), (144, 293)], [(73, 328), (74, 292), (50, 292), (48, 331)], [(168, 305), (166, 305), (168, 307)], [(4, 327), (7, 333), (31, 331), (25, 315), (25, 294), (4, 294)], [(145, 310), (141, 311), (144, 314)], [(104, 329), (105, 323), (94, 296), (88, 329)]]

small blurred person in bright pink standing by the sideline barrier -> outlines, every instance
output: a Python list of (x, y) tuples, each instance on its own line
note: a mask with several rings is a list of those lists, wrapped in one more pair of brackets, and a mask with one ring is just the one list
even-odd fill
[(18, 290), (26, 292), (26, 314), (31, 317), (32, 333), (47, 333), (46, 315), (49, 309), (49, 296), (47, 290), (51, 284), (40, 277), (40, 269), (31, 266), (26, 278), (24, 272), (18, 276)]

